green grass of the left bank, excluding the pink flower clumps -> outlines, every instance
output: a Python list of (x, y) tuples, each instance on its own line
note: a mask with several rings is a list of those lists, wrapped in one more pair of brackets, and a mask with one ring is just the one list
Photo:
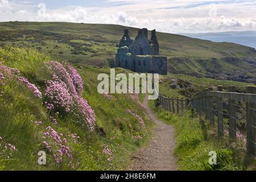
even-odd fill
[[(23, 76), (43, 90), (44, 80), (49, 73), (44, 63), (49, 57), (33, 50), (23, 48), (0, 48), (0, 61), (13, 68), (18, 68)], [(117, 100), (109, 100), (97, 92), (97, 73), (109, 72), (109, 69), (93, 67), (78, 69), (84, 80), (83, 96), (95, 110), (97, 128), (94, 133), (73, 122), (72, 117), (58, 117), (58, 125), (54, 125), (42, 101), (17, 81), (8, 81), (0, 86), (3, 96), (0, 96), (0, 136), (4, 142), (12, 143), (18, 148), (9, 160), (0, 155), (0, 169), (71, 169), (67, 163), (57, 167), (50, 154), (47, 154), (47, 166), (38, 165), (38, 151), (44, 150), (43, 133), (46, 127), (52, 126), (65, 137), (78, 134), (80, 143), (68, 140), (68, 146), (74, 156), (73, 163), (77, 170), (123, 169), (129, 163), (129, 155), (142, 146), (150, 136), (152, 123), (146, 117), (144, 110), (132, 98), (122, 94), (114, 95)], [(131, 109), (144, 118), (147, 129), (142, 130), (139, 121), (127, 113)], [(42, 121), (42, 125), (36, 125)], [(134, 139), (141, 135), (143, 139)], [(68, 137), (67, 137), (68, 138)], [(113, 151), (114, 159), (107, 162), (107, 156), (102, 153), (102, 144), (108, 144)]]

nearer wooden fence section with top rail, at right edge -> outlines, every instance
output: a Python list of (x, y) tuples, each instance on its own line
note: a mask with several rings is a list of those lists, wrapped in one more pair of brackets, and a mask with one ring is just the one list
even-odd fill
[[(191, 106), (199, 114), (205, 114), (210, 125), (216, 125), (218, 136), (228, 134), (230, 139), (237, 138), (237, 122), (246, 121), (245, 138), (247, 154), (255, 158), (256, 147), (256, 87), (247, 86), (246, 93), (237, 93), (234, 86), (223, 92), (223, 86), (217, 86), (217, 91), (209, 87), (205, 92), (191, 99)], [(240, 116), (238, 116), (238, 111)], [(244, 115), (244, 116), (243, 116)], [(225, 127), (228, 127), (225, 130)]]

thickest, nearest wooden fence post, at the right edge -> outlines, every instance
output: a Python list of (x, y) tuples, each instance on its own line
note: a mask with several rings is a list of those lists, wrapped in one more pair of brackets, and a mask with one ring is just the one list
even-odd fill
[[(246, 93), (256, 94), (255, 86), (247, 86)], [(246, 137), (247, 137), (247, 154), (255, 158), (255, 109), (256, 104), (246, 103)]]

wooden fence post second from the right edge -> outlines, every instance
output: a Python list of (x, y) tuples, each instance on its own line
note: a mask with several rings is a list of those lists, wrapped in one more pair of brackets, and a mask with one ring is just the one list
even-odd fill
[[(235, 86), (229, 86), (229, 92), (236, 92)], [(236, 101), (229, 99), (229, 137), (236, 139), (237, 126), (236, 126)]]

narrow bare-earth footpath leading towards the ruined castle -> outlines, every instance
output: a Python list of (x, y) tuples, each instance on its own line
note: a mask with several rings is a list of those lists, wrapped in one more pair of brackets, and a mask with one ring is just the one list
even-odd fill
[(131, 156), (132, 162), (128, 167), (133, 171), (174, 171), (177, 170), (175, 148), (175, 129), (159, 121), (148, 107), (147, 96), (144, 98), (143, 107), (148, 117), (156, 123), (153, 137), (147, 147), (138, 150)]

